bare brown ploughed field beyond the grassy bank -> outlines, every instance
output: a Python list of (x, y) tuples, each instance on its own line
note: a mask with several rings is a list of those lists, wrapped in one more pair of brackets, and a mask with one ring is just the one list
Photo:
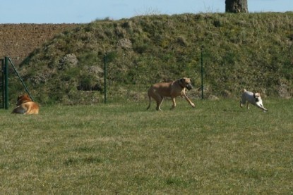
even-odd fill
[(0, 24), (0, 58), (8, 56), (15, 65), (54, 35), (78, 24)]

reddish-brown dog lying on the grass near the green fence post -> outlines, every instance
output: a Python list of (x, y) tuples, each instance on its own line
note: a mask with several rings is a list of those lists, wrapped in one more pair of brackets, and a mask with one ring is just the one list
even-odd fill
[(28, 94), (18, 96), (16, 108), (13, 109), (12, 113), (31, 115), (39, 113), (39, 105), (30, 99)]

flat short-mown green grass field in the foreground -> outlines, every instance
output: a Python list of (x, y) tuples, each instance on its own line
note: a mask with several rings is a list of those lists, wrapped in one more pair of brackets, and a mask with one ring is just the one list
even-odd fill
[(293, 99), (0, 110), (0, 194), (293, 194)]

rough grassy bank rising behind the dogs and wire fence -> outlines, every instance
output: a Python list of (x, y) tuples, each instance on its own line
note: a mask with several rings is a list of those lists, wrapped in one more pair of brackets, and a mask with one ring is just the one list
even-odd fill
[[(96, 20), (57, 34), (20, 64), (40, 103), (96, 103), (145, 99), (154, 82), (191, 77), (205, 97), (235, 97), (246, 88), (264, 96), (293, 94), (293, 13), (147, 15)], [(10, 78), (11, 97), (23, 91)]]

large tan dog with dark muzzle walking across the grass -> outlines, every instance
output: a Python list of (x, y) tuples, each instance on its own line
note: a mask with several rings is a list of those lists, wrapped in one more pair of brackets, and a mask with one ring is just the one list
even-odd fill
[(160, 82), (153, 84), (150, 89), (148, 89), (148, 108), (150, 108), (150, 101), (151, 98), (153, 98), (157, 102), (157, 111), (162, 111), (160, 106), (162, 105), (164, 97), (171, 97), (173, 102), (172, 109), (174, 109), (176, 107), (175, 97), (177, 96), (184, 96), (186, 101), (188, 101), (192, 107), (195, 107), (194, 103), (192, 103), (191, 100), (186, 96), (185, 88), (189, 90), (192, 89), (191, 80), (186, 77), (173, 82)]

